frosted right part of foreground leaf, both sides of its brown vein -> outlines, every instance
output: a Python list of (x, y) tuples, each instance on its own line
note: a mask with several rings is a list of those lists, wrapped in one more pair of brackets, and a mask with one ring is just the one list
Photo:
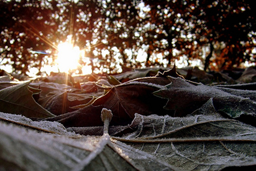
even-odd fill
[(136, 114), (130, 127), (135, 131), (114, 139), (181, 170), (256, 165), (256, 128), (219, 115), (212, 100), (183, 118)]

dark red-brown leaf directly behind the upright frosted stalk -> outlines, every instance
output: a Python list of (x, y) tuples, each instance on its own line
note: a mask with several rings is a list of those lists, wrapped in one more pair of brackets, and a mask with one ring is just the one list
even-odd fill
[[(119, 118), (133, 119), (136, 112), (142, 115), (160, 113), (163, 100), (155, 98), (154, 90), (164, 88), (168, 80), (159, 78), (132, 80), (120, 86), (114, 86), (103, 97), (94, 101), (93, 106), (103, 106), (111, 109)], [(160, 106), (160, 107), (159, 107)], [(163, 112), (163, 109), (161, 110)], [(165, 111), (166, 112), (166, 111)], [(113, 118), (114, 119), (114, 118)]]

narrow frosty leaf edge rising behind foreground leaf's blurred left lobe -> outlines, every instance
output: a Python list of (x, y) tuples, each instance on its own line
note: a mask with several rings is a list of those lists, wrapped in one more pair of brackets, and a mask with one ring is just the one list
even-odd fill
[(0, 112), (0, 119), (5, 121), (14, 122), (16, 124), (25, 125), (31, 128), (38, 128), (38, 130), (48, 131), (50, 133), (56, 133), (66, 136), (75, 135), (74, 132), (67, 131), (66, 128), (60, 124), (59, 122), (50, 122), (50, 121), (32, 121), (29, 118), (26, 118), (22, 115), (14, 115), (10, 113), (2, 113)]

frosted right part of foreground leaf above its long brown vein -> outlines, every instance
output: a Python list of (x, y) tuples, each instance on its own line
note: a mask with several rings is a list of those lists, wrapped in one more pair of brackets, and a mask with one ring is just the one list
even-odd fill
[[(136, 129), (132, 136), (129, 135), (129, 138), (156, 139), (164, 137), (166, 139), (180, 137), (199, 140), (200, 137), (224, 138), (227, 136), (233, 137), (233, 139), (246, 139), (246, 135), (249, 135), (249, 139), (256, 139), (255, 127), (234, 119), (224, 118), (215, 111), (212, 99), (192, 115), (182, 118), (168, 115), (144, 116), (136, 114), (129, 126)], [(195, 129), (196, 127), (197, 129)]]

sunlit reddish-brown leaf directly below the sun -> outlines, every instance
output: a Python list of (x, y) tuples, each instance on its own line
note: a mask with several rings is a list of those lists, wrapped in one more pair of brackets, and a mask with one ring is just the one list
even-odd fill
[[(77, 110), (81, 106), (88, 106), (90, 102), (93, 102), (92, 100), (103, 94), (103, 91), (95, 89), (96, 86), (93, 83), (87, 83), (87, 89), (83, 90), (68, 85), (45, 82), (31, 83), (30, 86), (41, 89), (37, 103), (54, 115), (61, 115)], [(91, 94), (92, 92), (94, 94)]]

